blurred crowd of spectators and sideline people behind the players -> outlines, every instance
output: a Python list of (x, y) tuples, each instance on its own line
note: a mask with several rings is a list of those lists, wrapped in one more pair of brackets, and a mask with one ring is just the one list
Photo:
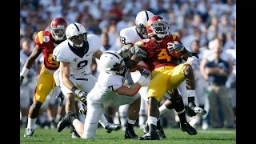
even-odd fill
[[(190, 125), (214, 128), (235, 127), (236, 117), (236, 1), (235, 0), (20, 0), (20, 55), (21, 70), (26, 58), (34, 48), (34, 38), (40, 30), (50, 30), (50, 22), (56, 17), (65, 18), (68, 23), (80, 22), (88, 34), (97, 34), (102, 41), (102, 51), (121, 48), (119, 32), (134, 26), (136, 14), (150, 10), (165, 18), (170, 32), (177, 34), (186, 49), (200, 52), (199, 59), (193, 63), (196, 79), (196, 102), (209, 113), (203, 118), (190, 119)], [(229, 74), (220, 71), (210, 74), (205, 67), (214, 65), (221, 58), (230, 64)], [(212, 62), (212, 63), (210, 63)], [(216, 66), (222, 68), (222, 65)], [(21, 126), (26, 126), (27, 110), (34, 94), (34, 86), (42, 57), (34, 63), (25, 82), (21, 86)], [(92, 74), (98, 77), (97, 61), (92, 63)], [(128, 79), (127, 85), (132, 84)], [(186, 100), (185, 84), (179, 87)], [(54, 90), (42, 107), (38, 125), (50, 126), (58, 122), (64, 114), (58, 107), (58, 90)], [(162, 100), (164, 101), (164, 99)], [(65, 104), (65, 103), (64, 103)], [(55, 111), (54, 111), (55, 110)], [(230, 111), (231, 110), (231, 111)], [(107, 110), (106, 117), (116, 121), (115, 110)], [(230, 114), (231, 113), (231, 114)], [(82, 117), (81, 117), (82, 118)], [(174, 111), (163, 114), (163, 126), (178, 126)]]

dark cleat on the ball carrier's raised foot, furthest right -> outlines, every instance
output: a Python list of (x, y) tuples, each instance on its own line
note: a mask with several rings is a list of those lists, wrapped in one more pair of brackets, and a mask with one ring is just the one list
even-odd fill
[(187, 110), (187, 115), (189, 117), (194, 117), (195, 115), (202, 116), (206, 114), (207, 114), (206, 110), (203, 110), (201, 107), (195, 106), (194, 102), (189, 103), (188, 110)]

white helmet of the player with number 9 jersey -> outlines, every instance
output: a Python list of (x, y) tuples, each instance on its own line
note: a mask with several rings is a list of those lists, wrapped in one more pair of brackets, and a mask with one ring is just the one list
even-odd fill
[(87, 41), (86, 29), (82, 24), (73, 22), (66, 27), (66, 38), (71, 46), (74, 48), (80, 48), (83, 42)]

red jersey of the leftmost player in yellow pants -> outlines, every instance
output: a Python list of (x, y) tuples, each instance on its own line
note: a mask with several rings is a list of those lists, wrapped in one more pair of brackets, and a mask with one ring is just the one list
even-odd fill
[(54, 38), (49, 31), (39, 31), (34, 39), (36, 45), (42, 50), (44, 65), (49, 70), (57, 70), (59, 62), (53, 58), (54, 51)]

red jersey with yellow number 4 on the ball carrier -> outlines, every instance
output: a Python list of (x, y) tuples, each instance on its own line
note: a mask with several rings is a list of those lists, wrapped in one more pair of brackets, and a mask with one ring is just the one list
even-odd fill
[(147, 52), (147, 58), (143, 59), (149, 70), (152, 72), (154, 69), (162, 66), (176, 66), (174, 58), (180, 58), (182, 54), (180, 52), (170, 52), (167, 49), (168, 42), (180, 41), (177, 35), (171, 34), (157, 42), (154, 39), (142, 39), (136, 42), (134, 45), (140, 46)]

